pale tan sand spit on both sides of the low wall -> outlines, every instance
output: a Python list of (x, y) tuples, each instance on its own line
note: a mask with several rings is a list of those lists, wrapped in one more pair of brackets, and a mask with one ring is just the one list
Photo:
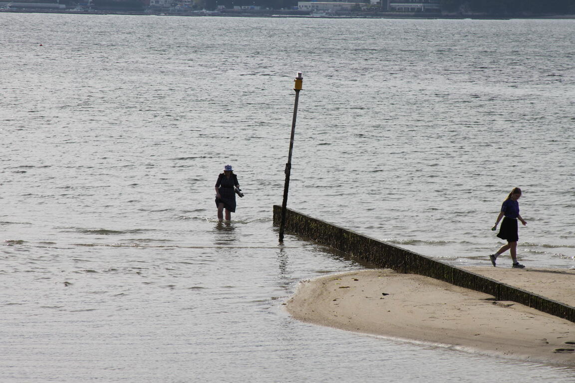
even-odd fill
[[(575, 270), (466, 269), (575, 304)], [(368, 269), (302, 281), (285, 305), (296, 319), (342, 330), (575, 365), (575, 323), (415, 274)]]

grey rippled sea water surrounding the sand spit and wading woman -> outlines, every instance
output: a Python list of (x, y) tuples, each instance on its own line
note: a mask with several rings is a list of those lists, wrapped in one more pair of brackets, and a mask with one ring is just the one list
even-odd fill
[[(572, 382), (575, 370), (296, 322), (289, 206), (486, 265), (575, 266), (575, 22), (0, 14), (0, 380)], [(246, 197), (218, 223), (224, 164)], [(504, 260), (502, 261), (502, 263)], [(510, 261), (509, 261), (510, 262)]]

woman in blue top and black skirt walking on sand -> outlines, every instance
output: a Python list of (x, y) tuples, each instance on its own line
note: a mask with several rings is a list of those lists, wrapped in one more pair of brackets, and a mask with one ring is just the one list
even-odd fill
[(523, 269), (525, 267), (517, 262), (517, 241), (519, 240), (519, 235), (517, 235), (517, 219), (523, 223), (523, 226), (527, 225), (527, 222), (519, 215), (519, 203), (517, 200), (520, 197), (521, 189), (513, 188), (511, 193), (507, 196), (507, 199), (503, 201), (501, 212), (497, 216), (495, 226), (491, 229), (493, 231), (497, 230), (497, 224), (501, 218), (504, 217), (503, 222), (501, 222), (501, 227), (499, 228), (499, 233), (497, 233), (497, 237), (505, 239), (507, 241), (507, 245), (501, 246), (501, 249), (497, 250), (497, 253), (489, 254), (489, 259), (493, 266), (495, 266), (497, 257), (499, 257), (503, 252), (509, 250), (509, 253), (511, 253), (511, 259), (513, 260), (512, 267), (515, 269)]

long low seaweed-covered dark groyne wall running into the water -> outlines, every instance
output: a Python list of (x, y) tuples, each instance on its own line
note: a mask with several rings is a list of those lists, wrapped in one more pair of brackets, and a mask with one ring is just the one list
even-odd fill
[[(281, 206), (274, 205), (274, 225), (279, 225), (280, 216)], [(285, 230), (313, 239), (380, 268), (388, 268), (405, 274), (420, 274), (446, 281), (456, 286), (493, 295), (497, 300), (514, 301), (575, 322), (575, 307), (570, 305), (459, 269), (291, 209), (286, 211)]]

